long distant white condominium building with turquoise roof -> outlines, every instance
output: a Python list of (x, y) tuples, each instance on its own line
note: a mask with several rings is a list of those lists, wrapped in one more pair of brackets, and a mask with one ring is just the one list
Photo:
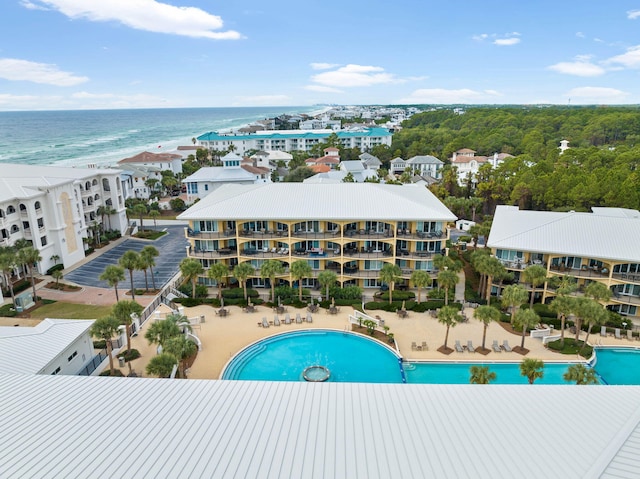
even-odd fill
[(336, 134), (345, 148), (365, 151), (377, 145), (391, 145), (391, 132), (386, 128), (360, 128), (357, 130), (278, 130), (254, 134), (209, 132), (198, 137), (204, 148), (214, 150), (235, 149), (243, 155), (248, 150), (309, 151), (323, 143), (329, 135)]

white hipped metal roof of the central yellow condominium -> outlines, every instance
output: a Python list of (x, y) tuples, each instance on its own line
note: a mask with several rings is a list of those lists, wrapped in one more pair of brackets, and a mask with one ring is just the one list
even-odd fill
[(223, 185), (178, 218), (456, 220), (424, 186), (377, 183)]

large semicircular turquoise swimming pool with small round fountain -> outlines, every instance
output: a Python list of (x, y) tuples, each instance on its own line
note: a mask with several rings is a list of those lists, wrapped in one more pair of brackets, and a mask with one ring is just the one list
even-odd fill
[(271, 336), (238, 353), (222, 379), (303, 381), (305, 369), (328, 369), (328, 381), (401, 383), (400, 357), (378, 341), (350, 332), (294, 331)]

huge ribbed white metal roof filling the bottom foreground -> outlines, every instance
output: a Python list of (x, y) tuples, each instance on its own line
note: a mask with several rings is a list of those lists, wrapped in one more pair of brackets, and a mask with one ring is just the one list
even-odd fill
[(3, 477), (572, 479), (640, 454), (640, 387), (0, 375), (0, 404)]

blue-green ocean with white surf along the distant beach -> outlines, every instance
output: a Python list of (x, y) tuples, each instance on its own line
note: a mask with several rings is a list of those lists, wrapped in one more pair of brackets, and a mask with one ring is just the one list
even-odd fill
[(114, 166), (143, 151), (192, 145), (192, 138), (318, 107), (166, 108), (0, 112), (0, 164)]

